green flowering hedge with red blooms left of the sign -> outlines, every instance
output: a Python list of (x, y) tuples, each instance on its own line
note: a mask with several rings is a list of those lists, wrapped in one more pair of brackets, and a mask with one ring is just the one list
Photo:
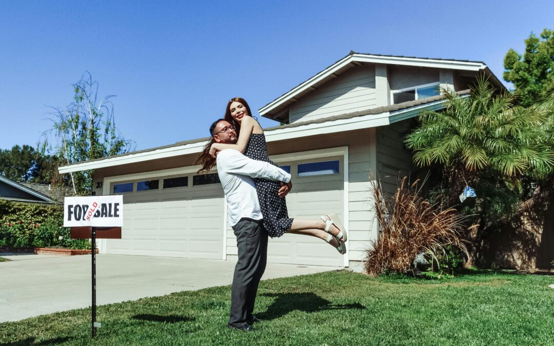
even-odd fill
[(63, 207), (0, 200), (0, 246), (90, 249), (88, 239), (70, 239)]

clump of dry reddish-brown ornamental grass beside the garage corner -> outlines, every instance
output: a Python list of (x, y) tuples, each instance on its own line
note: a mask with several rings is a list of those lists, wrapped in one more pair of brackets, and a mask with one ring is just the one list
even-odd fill
[[(407, 272), (418, 254), (428, 252), (438, 262), (444, 246), (454, 245), (469, 258), (461, 235), (465, 216), (455, 209), (442, 209), (419, 197), (416, 180), (410, 187), (407, 177), (401, 181), (396, 195), (385, 197), (380, 186), (372, 187), (375, 216), (379, 224), (377, 241), (367, 250), (365, 270), (378, 276), (385, 272)], [(387, 208), (391, 202), (392, 210)]]

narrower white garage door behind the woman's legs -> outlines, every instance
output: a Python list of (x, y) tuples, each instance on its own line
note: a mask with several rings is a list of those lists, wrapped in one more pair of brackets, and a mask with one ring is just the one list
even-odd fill
[[(291, 218), (315, 220), (322, 214), (336, 213), (345, 220), (342, 157), (278, 163), (289, 166), (292, 175), (293, 190), (286, 197)], [(326, 167), (329, 163), (331, 167)], [(334, 247), (315, 237), (285, 234), (269, 239), (269, 262), (342, 267), (343, 258)]]

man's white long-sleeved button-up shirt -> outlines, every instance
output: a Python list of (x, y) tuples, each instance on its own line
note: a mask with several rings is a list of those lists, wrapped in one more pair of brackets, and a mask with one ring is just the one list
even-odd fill
[(229, 208), (229, 224), (232, 226), (242, 218), (263, 219), (252, 178), (290, 182), (290, 174), (283, 169), (268, 162), (248, 158), (234, 149), (220, 151), (216, 162)]

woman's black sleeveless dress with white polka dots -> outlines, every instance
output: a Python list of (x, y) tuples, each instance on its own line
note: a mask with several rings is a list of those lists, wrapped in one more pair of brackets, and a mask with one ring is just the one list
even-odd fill
[[(272, 162), (268, 156), (268, 148), (263, 133), (252, 133), (250, 140), (244, 149), (244, 155), (251, 159), (265, 161), (279, 167)], [(275, 180), (254, 178), (258, 202), (260, 203), (261, 215), (264, 216), (264, 226), (270, 237), (280, 237), (293, 224), (286, 210), (286, 201), (280, 198), (278, 193), (281, 184)]]

